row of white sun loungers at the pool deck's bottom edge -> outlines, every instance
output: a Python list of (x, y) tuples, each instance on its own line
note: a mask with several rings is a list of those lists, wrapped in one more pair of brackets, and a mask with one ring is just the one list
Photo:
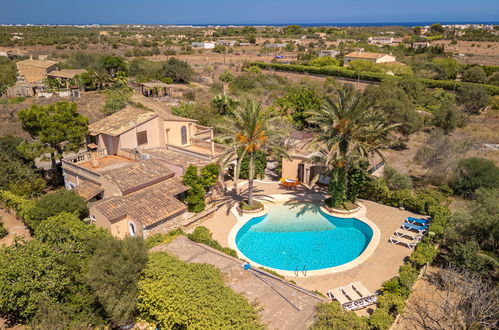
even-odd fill
[(346, 310), (353, 311), (376, 303), (377, 296), (372, 294), (360, 281), (331, 289), (327, 292), (330, 300), (336, 300)]

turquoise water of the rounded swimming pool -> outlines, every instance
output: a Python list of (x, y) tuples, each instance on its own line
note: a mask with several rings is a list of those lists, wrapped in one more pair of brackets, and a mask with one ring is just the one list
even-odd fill
[(336, 218), (316, 204), (271, 205), (237, 233), (239, 250), (262, 266), (294, 271), (343, 265), (357, 258), (373, 231), (355, 218)]

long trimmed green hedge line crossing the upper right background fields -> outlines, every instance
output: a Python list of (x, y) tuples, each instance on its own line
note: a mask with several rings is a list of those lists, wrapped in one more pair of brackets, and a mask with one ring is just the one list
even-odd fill
[[(251, 65), (260, 67), (262, 69), (274, 69), (278, 71), (288, 71), (297, 73), (311, 73), (320, 74), (326, 76), (336, 76), (349, 79), (360, 79), (367, 81), (381, 82), (389, 79), (401, 79), (401, 77), (391, 76), (384, 73), (373, 73), (373, 72), (357, 72), (344, 67), (339, 66), (323, 66), (323, 67), (313, 67), (305, 65), (295, 65), (295, 64), (281, 64), (281, 63), (265, 63), (265, 62), (252, 62)], [(423, 79), (419, 78), (418, 81), (422, 82), (429, 88), (442, 88), (446, 90), (458, 90), (463, 82), (453, 81), (453, 80), (433, 80), (433, 79)], [(489, 84), (476, 84), (484, 87), (487, 92), (491, 95), (499, 95), (499, 86), (489, 85)]]

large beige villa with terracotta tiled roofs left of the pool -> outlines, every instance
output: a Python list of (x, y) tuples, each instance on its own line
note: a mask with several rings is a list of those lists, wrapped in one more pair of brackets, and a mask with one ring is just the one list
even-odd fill
[(89, 202), (90, 220), (116, 237), (147, 237), (186, 220), (189, 165), (223, 152), (213, 129), (167, 109), (128, 106), (89, 126), (88, 151), (62, 160), (67, 189)]

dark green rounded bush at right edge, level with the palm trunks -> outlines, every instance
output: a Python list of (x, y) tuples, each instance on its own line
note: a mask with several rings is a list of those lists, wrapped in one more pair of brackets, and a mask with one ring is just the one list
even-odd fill
[(459, 161), (450, 181), (455, 194), (473, 198), (478, 188), (499, 187), (499, 168), (492, 160), (472, 157)]

